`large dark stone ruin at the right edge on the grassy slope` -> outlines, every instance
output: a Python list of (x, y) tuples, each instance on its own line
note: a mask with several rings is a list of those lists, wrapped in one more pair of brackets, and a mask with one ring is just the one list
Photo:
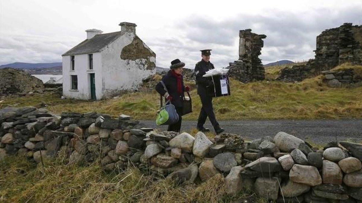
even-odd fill
[(323, 31), (317, 36), (314, 52), (315, 59), (309, 60), (306, 65), (282, 69), (277, 80), (302, 81), (345, 62), (362, 65), (362, 26), (344, 23), (340, 27)]

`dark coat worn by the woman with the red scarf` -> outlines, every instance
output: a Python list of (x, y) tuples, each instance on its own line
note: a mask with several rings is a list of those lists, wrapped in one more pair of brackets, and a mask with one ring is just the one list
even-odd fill
[[(181, 94), (177, 92), (177, 78), (171, 73), (171, 70), (169, 70), (169, 72), (165, 74), (161, 80), (165, 83), (165, 86), (168, 90), (168, 94), (172, 96), (171, 103), (175, 107), (184, 107), (183, 103), (185, 97), (184, 77), (181, 75), (181, 88), (182, 88)], [(166, 90), (164, 90), (161, 82), (157, 83), (155, 89), (162, 96), (164, 96), (166, 93)]]

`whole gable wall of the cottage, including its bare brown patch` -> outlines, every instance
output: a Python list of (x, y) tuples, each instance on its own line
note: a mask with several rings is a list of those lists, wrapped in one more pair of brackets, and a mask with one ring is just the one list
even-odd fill
[(133, 33), (121, 36), (101, 54), (102, 98), (111, 98), (122, 90), (136, 90), (143, 78), (156, 73), (155, 53)]

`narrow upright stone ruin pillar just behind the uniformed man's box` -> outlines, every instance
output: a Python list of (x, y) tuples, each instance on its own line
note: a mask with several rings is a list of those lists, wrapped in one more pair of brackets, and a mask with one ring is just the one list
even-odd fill
[(246, 29), (239, 31), (239, 38), (239, 59), (229, 63), (229, 75), (241, 82), (264, 80), (265, 69), (259, 55), (264, 46), (262, 39), (266, 35), (258, 35)]

